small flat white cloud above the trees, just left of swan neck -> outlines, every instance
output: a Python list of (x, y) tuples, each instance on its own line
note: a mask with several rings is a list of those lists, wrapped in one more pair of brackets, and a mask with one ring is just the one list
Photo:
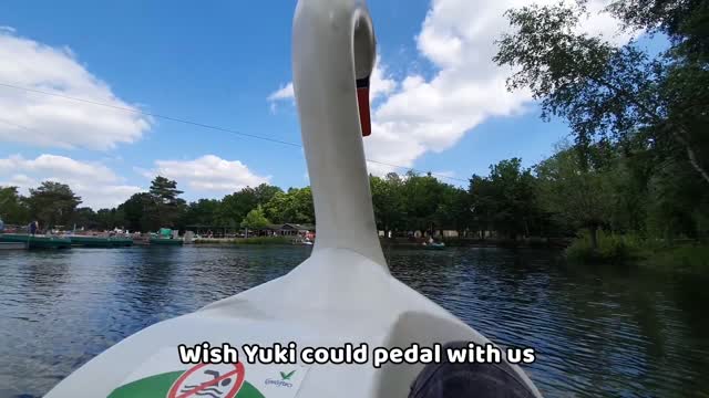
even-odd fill
[(225, 160), (215, 155), (194, 160), (156, 160), (154, 169), (137, 171), (147, 178), (160, 175), (187, 184), (195, 191), (212, 193), (232, 193), (270, 180), (270, 176), (257, 176), (239, 160)]

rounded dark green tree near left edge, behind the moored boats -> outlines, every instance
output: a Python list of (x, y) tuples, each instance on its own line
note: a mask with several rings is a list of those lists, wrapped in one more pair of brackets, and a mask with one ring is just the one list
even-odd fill
[(30, 189), (28, 199), (31, 213), (45, 228), (68, 226), (81, 198), (68, 185), (44, 181)]

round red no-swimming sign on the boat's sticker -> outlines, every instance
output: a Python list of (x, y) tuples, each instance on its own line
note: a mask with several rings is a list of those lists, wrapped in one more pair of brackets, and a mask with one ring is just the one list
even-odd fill
[(240, 363), (199, 364), (175, 380), (167, 398), (189, 398), (205, 392), (219, 398), (234, 398), (244, 385), (244, 377), (245, 369)]

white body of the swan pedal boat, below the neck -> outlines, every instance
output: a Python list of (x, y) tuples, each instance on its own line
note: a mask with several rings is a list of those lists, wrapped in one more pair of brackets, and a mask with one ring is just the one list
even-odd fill
[[(327, 287), (326, 287), (327, 286)], [(366, 289), (367, 294), (362, 294)], [(306, 347), (431, 347), (449, 342), (490, 343), (420, 293), (399, 282), (381, 265), (349, 250), (315, 253), (285, 276), (195, 313), (157, 323), (138, 332), (74, 371), (45, 398), (129, 397), (135, 390), (169, 374), (189, 374), (197, 366), (179, 362), (178, 346), (207, 342), (212, 347), (229, 344), (245, 355), (243, 345), (270, 347), (275, 343)], [(244, 386), (260, 395), (248, 397), (407, 397), (423, 364), (278, 365), (244, 362)], [(541, 397), (517, 366), (512, 367)], [(295, 371), (288, 384), (269, 378)], [(169, 373), (169, 374), (167, 374)], [(265, 375), (265, 376), (264, 376)], [(282, 377), (282, 376), (281, 376)], [(176, 377), (175, 377), (176, 378)], [(102, 383), (92, 383), (102, 380)], [(356, 380), (357, 383), (350, 383)], [(178, 383), (175, 383), (176, 385)], [(347, 384), (347, 388), (343, 388)], [(244, 388), (246, 388), (244, 387)], [(131, 394), (127, 391), (131, 388)], [(167, 396), (169, 384), (155, 396)], [(292, 394), (278, 394), (278, 389)]]

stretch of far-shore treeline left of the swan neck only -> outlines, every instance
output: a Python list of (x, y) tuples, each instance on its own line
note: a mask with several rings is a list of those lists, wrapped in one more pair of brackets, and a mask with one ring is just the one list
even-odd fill
[(43, 228), (156, 231), (160, 228), (185, 230), (191, 226), (259, 228), (267, 223), (314, 223), (310, 188), (260, 185), (245, 188), (222, 199), (187, 202), (177, 182), (156, 177), (147, 192), (133, 195), (112, 209), (94, 211), (80, 207), (82, 200), (68, 185), (44, 181), (24, 197), (17, 187), (0, 187), (0, 218), (7, 224), (27, 224), (38, 220)]

